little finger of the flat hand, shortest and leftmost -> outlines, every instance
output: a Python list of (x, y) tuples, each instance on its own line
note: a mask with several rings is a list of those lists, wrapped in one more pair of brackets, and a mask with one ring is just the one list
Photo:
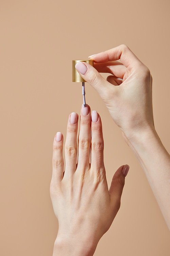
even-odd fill
[(52, 181), (61, 181), (63, 179), (63, 135), (57, 132), (53, 142), (52, 157)]

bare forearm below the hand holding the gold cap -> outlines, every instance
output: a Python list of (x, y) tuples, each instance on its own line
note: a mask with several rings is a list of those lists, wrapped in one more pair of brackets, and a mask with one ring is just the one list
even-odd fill
[(128, 141), (144, 170), (160, 210), (170, 229), (170, 155), (155, 129), (138, 133)]

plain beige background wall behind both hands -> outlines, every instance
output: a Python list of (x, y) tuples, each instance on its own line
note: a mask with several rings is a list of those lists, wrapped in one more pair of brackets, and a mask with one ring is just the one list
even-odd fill
[[(170, 152), (169, 11), (168, 0), (0, 1), (1, 255), (52, 255), (52, 142), (57, 131), (66, 137), (68, 115), (82, 104), (72, 59), (127, 44), (151, 70), (155, 127)], [(102, 118), (108, 184), (130, 165), (121, 208), (95, 255), (170, 255), (170, 233), (138, 161), (88, 84), (86, 100)]]

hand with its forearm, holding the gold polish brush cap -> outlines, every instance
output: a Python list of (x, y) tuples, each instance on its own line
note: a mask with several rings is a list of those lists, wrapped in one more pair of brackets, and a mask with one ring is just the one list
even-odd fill
[[(79, 73), (97, 90), (122, 130), (170, 229), (170, 155), (154, 127), (150, 71), (126, 45), (90, 58), (94, 59), (94, 67), (84, 62), (86, 70)], [(112, 75), (105, 80), (99, 72)]]

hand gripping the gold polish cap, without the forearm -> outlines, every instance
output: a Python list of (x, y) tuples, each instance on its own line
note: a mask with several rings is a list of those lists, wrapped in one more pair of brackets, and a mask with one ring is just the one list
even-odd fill
[[(135, 134), (154, 129), (152, 76), (128, 46), (120, 45), (90, 59), (94, 60), (94, 67), (78, 62), (76, 68), (105, 102), (126, 143)], [(122, 63), (117, 61), (119, 59)], [(99, 72), (112, 75), (105, 80)]]

